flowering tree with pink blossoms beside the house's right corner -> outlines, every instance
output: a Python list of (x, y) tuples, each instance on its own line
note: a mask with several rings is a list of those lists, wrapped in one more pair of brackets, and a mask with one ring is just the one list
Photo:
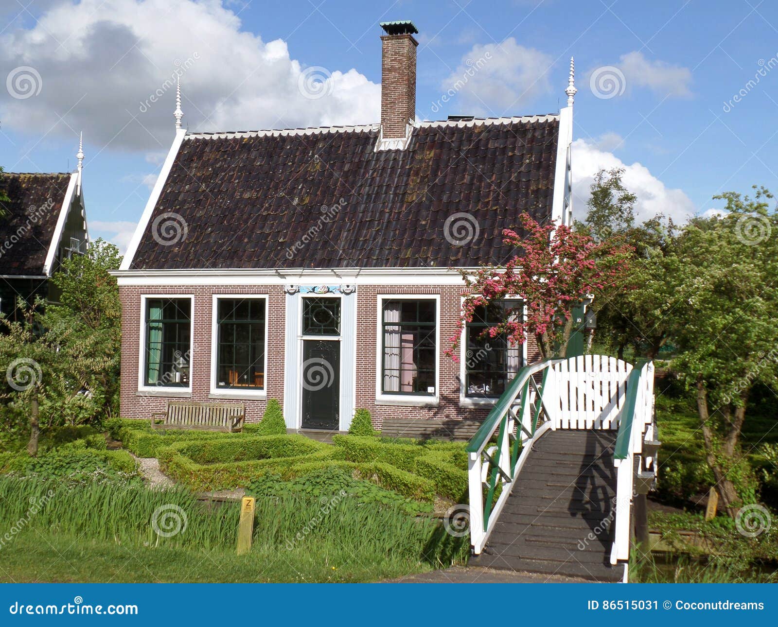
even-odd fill
[(566, 356), (573, 331), (573, 308), (589, 296), (603, 294), (622, 282), (631, 247), (619, 240), (594, 241), (569, 226), (541, 225), (527, 213), (520, 215), (525, 234), (503, 230), (503, 241), (520, 248), (504, 267), (485, 266), (463, 272), (468, 296), (464, 298), (457, 332), (447, 354), (454, 359), (464, 325), (479, 306), (520, 298), (525, 310), (506, 307), (502, 319), (483, 335), (505, 335), (510, 345), (534, 336), (544, 358)]

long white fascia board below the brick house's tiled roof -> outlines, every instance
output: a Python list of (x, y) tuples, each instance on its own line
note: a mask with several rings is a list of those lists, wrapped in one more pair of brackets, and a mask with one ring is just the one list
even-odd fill
[[(464, 268), (475, 272), (477, 268)], [(289, 270), (124, 270), (111, 271), (119, 285), (461, 285), (450, 268), (333, 268)]]

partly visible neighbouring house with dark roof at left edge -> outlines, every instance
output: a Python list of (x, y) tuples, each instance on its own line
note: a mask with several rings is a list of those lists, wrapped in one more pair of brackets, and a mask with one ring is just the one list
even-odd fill
[(82, 194), (83, 150), (73, 173), (0, 173), (0, 312), (14, 319), (19, 297), (56, 302), (49, 278), (89, 245)]

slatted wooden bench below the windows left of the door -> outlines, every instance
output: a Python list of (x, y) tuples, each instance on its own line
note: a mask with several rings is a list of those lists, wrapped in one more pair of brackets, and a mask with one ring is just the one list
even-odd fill
[[(163, 422), (156, 421), (162, 418)], [(167, 401), (164, 412), (151, 415), (152, 429), (198, 429), (202, 431), (241, 431), (246, 419), (243, 403)]]

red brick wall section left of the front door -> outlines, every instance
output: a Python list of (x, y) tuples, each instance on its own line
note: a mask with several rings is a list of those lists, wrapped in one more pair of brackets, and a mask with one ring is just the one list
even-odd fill
[[(195, 335), (193, 338), (191, 377), (194, 401), (207, 401), (211, 378), (211, 316), (214, 294), (267, 294), (268, 295), (268, 372), (265, 387), (268, 398), (277, 398), (283, 404), (284, 396), (284, 320), (285, 294), (280, 285), (251, 288), (197, 285), (194, 287), (160, 288), (123, 285), (121, 298), (121, 416), (148, 419), (151, 412), (162, 412), (170, 398), (138, 392), (138, 342), (140, 340), (141, 296), (195, 295)], [(222, 399), (219, 399), (222, 401)], [(224, 400), (223, 402), (241, 402)], [(256, 422), (265, 412), (266, 401), (249, 400), (246, 403), (246, 419)]]

